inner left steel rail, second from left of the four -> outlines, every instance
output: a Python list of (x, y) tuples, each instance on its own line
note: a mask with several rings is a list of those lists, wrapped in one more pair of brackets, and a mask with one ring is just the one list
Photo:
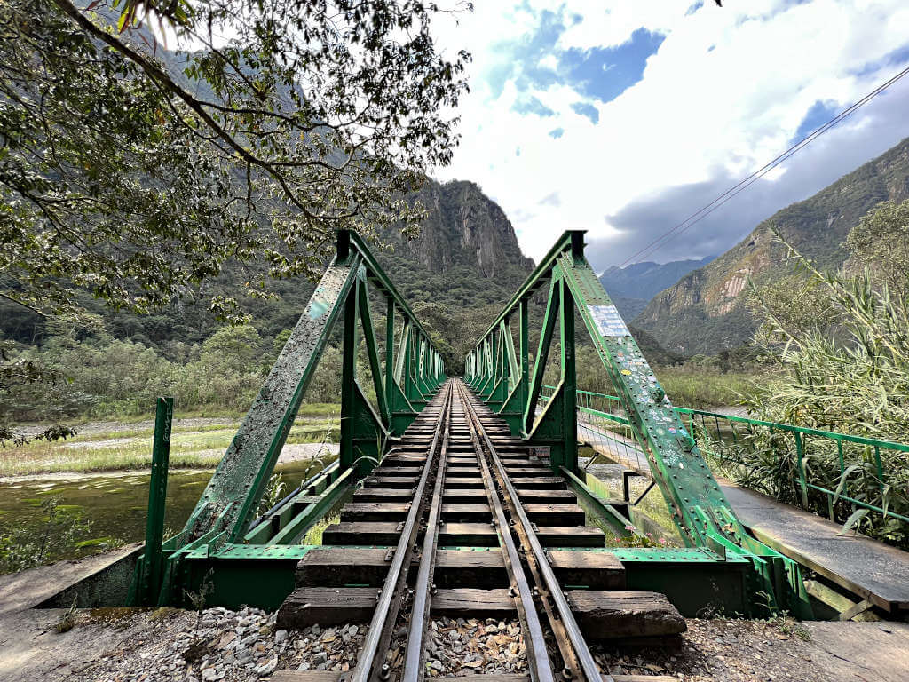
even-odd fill
[(410, 633), (405, 648), (404, 682), (419, 682), (425, 677), (424, 641), (429, 626), (429, 597), (433, 589), (432, 579), (435, 575), (435, 557), (439, 546), (439, 523), (442, 517), (442, 489), (445, 484), (445, 468), (448, 466), (448, 442), (451, 436), (452, 405), (440, 420), (445, 422), (445, 436), (442, 439), (442, 451), (439, 455), (439, 466), (435, 474), (433, 499), (429, 506), (429, 518), (426, 521), (426, 533), (423, 538), (423, 553), (420, 556), (420, 567), (416, 574), (414, 586), (414, 605), (411, 607)]

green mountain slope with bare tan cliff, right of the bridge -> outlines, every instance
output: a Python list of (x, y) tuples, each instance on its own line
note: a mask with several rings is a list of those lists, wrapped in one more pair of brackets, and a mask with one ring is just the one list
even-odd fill
[[(844, 239), (882, 201), (909, 198), (909, 138), (804, 201), (777, 211), (738, 245), (654, 296), (634, 324), (667, 350), (714, 354), (751, 340), (757, 322), (744, 306), (747, 280), (784, 271), (773, 227), (822, 268), (842, 266)], [(608, 288), (608, 287), (607, 287)]]

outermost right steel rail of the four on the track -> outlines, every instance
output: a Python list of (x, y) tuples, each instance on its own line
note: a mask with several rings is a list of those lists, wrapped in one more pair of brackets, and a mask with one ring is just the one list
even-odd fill
[[(473, 404), (469, 400), (467, 401), (467, 404), (477, 421), (479, 421), (479, 416), (476, 414)], [(562, 587), (555, 577), (553, 567), (549, 565), (549, 560), (546, 558), (543, 546), (540, 544), (539, 538), (536, 537), (533, 524), (531, 523), (530, 518), (527, 517), (527, 513), (524, 511), (524, 506), (520, 502), (517, 490), (515, 490), (508, 473), (505, 471), (502, 460), (499, 459), (498, 453), (495, 451), (495, 446), (485, 429), (483, 429), (483, 438), (486, 449), (489, 452), (498, 473), (500, 485), (503, 486), (505, 497), (511, 503), (510, 506), (512, 507), (514, 516), (518, 518), (519, 527), (515, 529), (518, 531), (518, 534), (522, 536), (522, 544), (526, 542), (532, 550), (536, 565), (544, 580), (544, 586), (540, 587), (544, 587), (548, 591), (549, 597), (552, 598), (555, 607), (558, 610), (559, 617), (564, 625), (565, 633), (571, 642), (571, 646), (574, 649), (574, 655), (577, 657), (577, 661), (580, 664), (580, 672), (583, 673), (587, 682), (613, 682), (612, 677), (601, 674), (596, 667), (594, 657), (590, 653), (590, 647), (587, 646), (587, 643), (584, 640), (584, 634), (581, 632), (581, 628), (578, 627), (577, 621), (574, 619), (574, 614), (568, 604), (568, 600), (565, 598)], [(530, 557), (528, 557), (528, 559), (529, 558)]]

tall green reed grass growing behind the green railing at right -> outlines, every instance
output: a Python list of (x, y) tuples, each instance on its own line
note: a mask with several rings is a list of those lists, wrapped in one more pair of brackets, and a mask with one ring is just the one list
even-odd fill
[[(897, 443), (909, 441), (909, 305), (859, 276), (821, 272), (792, 246), (790, 257), (830, 315), (829, 324), (794, 330), (753, 286), (764, 324), (756, 340), (776, 370), (744, 396), (750, 416), (766, 421), (836, 431)], [(794, 481), (798, 458), (791, 435), (770, 429), (746, 434), (738, 445), (736, 477), (786, 502), (804, 504)], [(835, 442), (804, 443), (805, 476), (869, 505), (909, 516), (909, 455)], [(880, 468), (876, 457), (881, 457)], [(882, 475), (883, 472), (883, 475)], [(822, 501), (823, 498), (823, 501)], [(898, 545), (909, 544), (909, 527), (892, 517), (863, 511), (836, 498), (834, 516), (850, 527)], [(823, 506), (822, 506), (823, 505)], [(826, 496), (808, 506), (827, 514)], [(821, 506), (821, 508), (817, 508)]]

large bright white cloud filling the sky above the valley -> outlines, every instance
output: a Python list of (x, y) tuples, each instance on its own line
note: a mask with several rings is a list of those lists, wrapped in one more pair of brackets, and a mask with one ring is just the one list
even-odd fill
[[(904, 0), (727, 0), (722, 9), (708, 1), (692, 15), (685, 15), (679, 0), (530, 5), (533, 12), (478, 3), (475, 14), (461, 15), (459, 26), (440, 23), (441, 43), (466, 47), (474, 64), (472, 93), (458, 112), (462, 144), (453, 165), (439, 175), (474, 180), (496, 196), (534, 257), (567, 228), (587, 229), (592, 238), (614, 235), (604, 216), (665, 188), (749, 174), (790, 144), (814, 102), (844, 108), (893, 75), (901, 65), (867, 65), (909, 43)], [(519, 94), (514, 76), (498, 95), (491, 75), (514, 61), (503, 41), (533, 35), (542, 9), (561, 11), (569, 25), (557, 49), (621, 45), (639, 27), (666, 37), (648, 59), (643, 79), (613, 101), (592, 102), (576, 84), (537, 86), (521, 94), (538, 97), (555, 115), (521, 115), (512, 108)], [(575, 13), (583, 19), (572, 25)], [(534, 62), (553, 65), (555, 55)], [(601, 77), (613, 77), (613, 70)], [(909, 80), (895, 88), (909, 88)], [(596, 106), (598, 125), (571, 108), (582, 100)], [(824, 144), (853, 139), (849, 131), (859, 125), (874, 122), (856, 115), (826, 135)], [(885, 148), (909, 135), (909, 122), (904, 126), (875, 135), (890, 140)], [(557, 127), (564, 135), (554, 139), (548, 134)], [(794, 157), (774, 176), (774, 185), (787, 182), (786, 168), (810, 165), (812, 153), (808, 147)], [(560, 206), (539, 205), (554, 192)], [(704, 204), (713, 198), (704, 196)]]

